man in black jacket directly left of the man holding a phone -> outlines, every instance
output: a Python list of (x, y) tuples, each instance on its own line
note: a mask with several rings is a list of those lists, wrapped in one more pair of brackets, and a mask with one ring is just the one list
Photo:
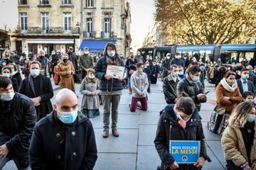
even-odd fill
[(178, 66), (171, 65), (171, 74), (164, 78), (163, 92), (167, 104), (174, 104), (177, 98), (176, 86), (178, 84)]

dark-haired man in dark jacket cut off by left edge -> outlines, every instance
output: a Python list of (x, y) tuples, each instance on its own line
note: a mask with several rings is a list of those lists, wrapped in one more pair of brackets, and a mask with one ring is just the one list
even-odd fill
[(36, 109), (28, 97), (14, 92), (7, 77), (0, 77), (0, 115), (0, 169), (30, 169), (28, 147)]

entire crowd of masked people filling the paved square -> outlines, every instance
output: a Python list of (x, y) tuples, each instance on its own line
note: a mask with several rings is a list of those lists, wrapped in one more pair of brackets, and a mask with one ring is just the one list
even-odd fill
[[(62, 55), (53, 51), (50, 57), (44, 50), (21, 57), (6, 50), (0, 69), (0, 169), (93, 169), (97, 147), (89, 119), (100, 115), (102, 105), (102, 137), (109, 137), (110, 128), (119, 137), (122, 90), (131, 94), (131, 112), (147, 111), (150, 86), (159, 79), (166, 101), (154, 140), (161, 158), (159, 169), (201, 169), (205, 161), (210, 162), (201, 123), (207, 79), (216, 88), (208, 130), (222, 135), (228, 168), (256, 170), (253, 60), (202, 62), (178, 52), (173, 59), (170, 53), (153, 60), (140, 52), (124, 58), (112, 43), (96, 58), (88, 47), (81, 56), (75, 55), (72, 46)], [(125, 76), (107, 74), (110, 65), (125, 67)], [(60, 82), (54, 103), (51, 81)], [(80, 111), (76, 83), (82, 94)], [(194, 164), (177, 164), (169, 152), (169, 140), (200, 141), (200, 157)]]

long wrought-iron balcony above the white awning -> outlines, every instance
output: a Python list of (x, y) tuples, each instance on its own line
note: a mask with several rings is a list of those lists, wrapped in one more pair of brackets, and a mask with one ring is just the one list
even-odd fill
[(80, 29), (78, 27), (64, 29), (63, 27), (28, 27), (28, 30), (17, 29), (16, 33), (20, 34), (79, 34)]

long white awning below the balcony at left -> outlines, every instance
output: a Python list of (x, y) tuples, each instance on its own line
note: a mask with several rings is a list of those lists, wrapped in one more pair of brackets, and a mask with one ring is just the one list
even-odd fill
[(74, 39), (27, 39), (28, 44), (73, 44)]

